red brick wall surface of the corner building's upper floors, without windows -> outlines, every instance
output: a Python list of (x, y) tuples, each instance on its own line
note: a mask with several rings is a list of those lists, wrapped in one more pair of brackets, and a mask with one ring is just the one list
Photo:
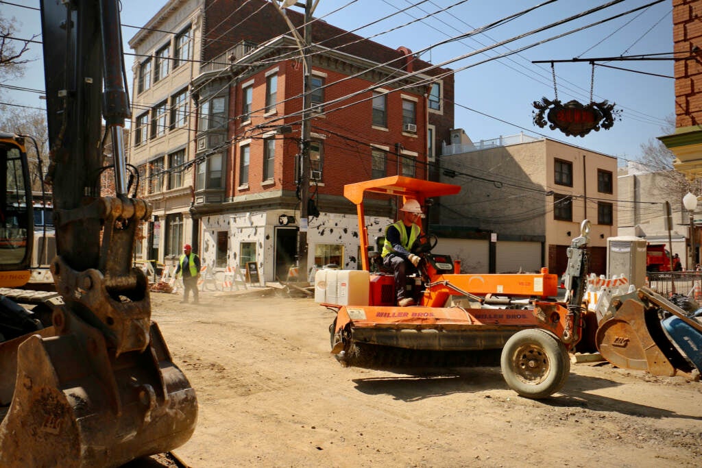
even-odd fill
[[(277, 112), (274, 115), (263, 116), (265, 105), (265, 80), (267, 72), (278, 68)], [(334, 83), (345, 78), (333, 69), (314, 66), (314, 72), (326, 74), (325, 83)], [(230, 165), (228, 178), (234, 181), (227, 184), (232, 192), (227, 196), (241, 196), (244, 194), (257, 194), (266, 190), (295, 190), (296, 155), (300, 138), (300, 116), (289, 116), (302, 109), (302, 100), (287, 98), (298, 96), (303, 89), (303, 70), (294, 60), (279, 62), (277, 65), (260, 69), (253, 76), (241, 78), (236, 87), (232, 86), (230, 92), (230, 116), (241, 115), (241, 84), (248, 84), (253, 79), (253, 116), (251, 123), (242, 125), (241, 119), (232, 119), (231, 130), (234, 140), (241, 141), (250, 138), (250, 163), (249, 185), (242, 189), (239, 187), (239, 143), (234, 143), (230, 152)], [(336, 98), (364, 90), (373, 83), (366, 79), (354, 78), (332, 85), (324, 89), (324, 100), (331, 101)], [(411, 135), (402, 131), (402, 95), (416, 99), (417, 133)], [(386, 175), (397, 174), (397, 156), (395, 144), (402, 145), (406, 152), (416, 153), (416, 177), (425, 178), (426, 164), (426, 129), (423, 122), (427, 118), (426, 100), (423, 94), (409, 90), (394, 91), (388, 94), (387, 100), (387, 130), (373, 128), (371, 91), (360, 94), (357, 98), (344, 100), (334, 105), (325, 105), (325, 114), (314, 116), (311, 119), (313, 135), (324, 135), (322, 141), (323, 175), (319, 194), (341, 196), (343, 186), (351, 182), (360, 182), (371, 178), (371, 144), (388, 147)], [(363, 100), (363, 101), (362, 101)], [(285, 101), (285, 102), (282, 102)], [(362, 102), (361, 102), (362, 101)], [(343, 107), (343, 109), (340, 109)], [(283, 121), (274, 121), (278, 116), (288, 116)], [(444, 116), (444, 118), (446, 118)], [(253, 128), (265, 122), (274, 121), (280, 125), (290, 125), (293, 133), (276, 135), (275, 176), (273, 185), (262, 185), (263, 182), (263, 140), (262, 131)], [(254, 138), (251, 138), (251, 137)], [(415, 156), (411, 156), (415, 157)]]

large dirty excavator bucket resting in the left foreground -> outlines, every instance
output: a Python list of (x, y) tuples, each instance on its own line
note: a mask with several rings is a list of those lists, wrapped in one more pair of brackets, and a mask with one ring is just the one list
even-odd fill
[(16, 382), (1, 376), (15, 385), (1, 387), (0, 466), (116, 467), (190, 438), (195, 392), (155, 323), (143, 351), (117, 355), (69, 309), (57, 316), (69, 333), (0, 345), (17, 359)]

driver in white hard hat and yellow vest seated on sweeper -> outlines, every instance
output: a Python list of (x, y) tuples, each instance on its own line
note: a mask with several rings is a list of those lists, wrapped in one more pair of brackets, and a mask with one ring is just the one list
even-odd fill
[(417, 240), (421, 228), (417, 225), (420, 218), (424, 218), (422, 207), (414, 199), (407, 200), (400, 210), (400, 219), (385, 229), (385, 243), (383, 244), (383, 265), (392, 268), (395, 274), (395, 295), (397, 305), (407, 307), (414, 305), (414, 298), (407, 293), (407, 263), (415, 267), (420, 258), (410, 252), (412, 244)]

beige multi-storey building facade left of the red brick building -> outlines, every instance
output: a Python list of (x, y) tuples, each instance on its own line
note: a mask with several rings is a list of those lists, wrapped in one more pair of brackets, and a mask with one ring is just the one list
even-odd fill
[(190, 82), (199, 74), (203, 0), (168, 1), (129, 41), (132, 121), (129, 163), (140, 174), (140, 196), (153, 207), (138, 241), (138, 259), (173, 262), (197, 240), (190, 218), (195, 121)]

